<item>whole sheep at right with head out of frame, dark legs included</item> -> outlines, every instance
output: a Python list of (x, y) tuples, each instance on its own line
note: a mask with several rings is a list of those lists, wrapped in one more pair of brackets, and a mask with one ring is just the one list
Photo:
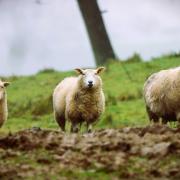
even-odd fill
[(144, 84), (144, 100), (150, 121), (180, 124), (180, 67), (152, 74)]

